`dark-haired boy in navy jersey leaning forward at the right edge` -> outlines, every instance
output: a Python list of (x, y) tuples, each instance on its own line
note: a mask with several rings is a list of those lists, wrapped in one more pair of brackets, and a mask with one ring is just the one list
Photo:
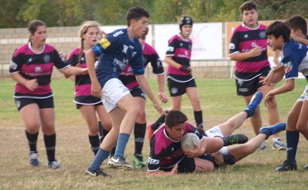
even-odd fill
[[(287, 22), (288, 23), (288, 22)], [(290, 24), (292, 27), (292, 25)], [(307, 24), (303, 28), (304, 34), (302, 38), (306, 37)], [(305, 29), (304, 29), (305, 28)], [(296, 31), (295, 28), (292, 28)], [(282, 22), (273, 22), (270, 24), (265, 33), (267, 35), (267, 42), (273, 50), (282, 50), (282, 61), (279, 66), (274, 68), (268, 76), (261, 77), (261, 82), (264, 84), (277, 83), (285, 75), (286, 81), (280, 87), (268, 92), (265, 96), (265, 103), (273, 104), (273, 96), (292, 91), (295, 87), (294, 79), (298, 77), (298, 72), (308, 80), (308, 48), (302, 43), (294, 43), (290, 40), (290, 28)], [(276, 169), (276, 171), (297, 170), (295, 160), (297, 145), (299, 141), (299, 132), (308, 139), (308, 85), (299, 100), (294, 104), (292, 110), (288, 115), (287, 122), (287, 159), (283, 164)], [(308, 169), (308, 166), (305, 166)]]

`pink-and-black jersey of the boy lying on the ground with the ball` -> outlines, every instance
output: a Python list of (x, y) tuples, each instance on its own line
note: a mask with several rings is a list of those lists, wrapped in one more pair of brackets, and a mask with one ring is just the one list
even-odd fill
[[(195, 133), (200, 141), (203, 140), (203, 135), (189, 123), (185, 123), (184, 135), (186, 133)], [(165, 126), (155, 131), (150, 142), (151, 150), (148, 159), (148, 171), (157, 171), (160, 168), (173, 168), (179, 163), (185, 156), (181, 149), (181, 140), (174, 141), (170, 139)]]

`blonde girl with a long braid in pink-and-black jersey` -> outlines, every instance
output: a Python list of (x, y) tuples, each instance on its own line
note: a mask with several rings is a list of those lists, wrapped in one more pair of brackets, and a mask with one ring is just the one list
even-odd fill
[[(68, 64), (76, 67), (87, 68), (85, 53), (98, 42), (100, 35), (99, 24), (95, 21), (84, 22), (79, 30), (81, 38), (80, 47), (75, 48), (69, 56)], [(96, 154), (99, 149), (99, 137), (97, 116), (105, 130), (110, 131), (112, 127), (111, 119), (107, 114), (101, 99), (91, 95), (91, 80), (88, 74), (76, 75), (75, 80), (75, 99), (77, 109), (85, 118), (89, 129), (89, 142), (91, 150)]]

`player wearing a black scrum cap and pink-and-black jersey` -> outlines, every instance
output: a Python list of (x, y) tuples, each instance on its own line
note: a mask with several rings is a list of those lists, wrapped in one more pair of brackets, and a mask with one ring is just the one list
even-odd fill
[[(180, 33), (169, 39), (165, 56), (165, 62), (168, 64), (167, 81), (171, 96), (170, 110), (179, 111), (181, 109), (182, 95), (186, 93), (194, 110), (196, 125), (203, 127), (200, 100), (190, 67), (192, 41), (189, 36), (193, 21), (190, 17), (184, 16), (179, 19), (178, 23)], [(149, 138), (164, 120), (165, 116), (162, 115), (155, 123), (148, 125)]]

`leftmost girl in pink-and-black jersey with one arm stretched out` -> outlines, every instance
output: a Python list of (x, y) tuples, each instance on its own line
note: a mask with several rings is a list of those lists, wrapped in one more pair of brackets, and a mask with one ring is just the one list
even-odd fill
[(47, 30), (43, 21), (33, 21), (28, 30), (29, 43), (16, 49), (9, 68), (10, 76), (16, 81), (13, 97), (26, 126), (31, 165), (39, 165), (36, 142), (42, 126), (47, 165), (58, 169), (62, 165), (54, 157), (56, 135), (53, 94), (50, 88), (52, 68), (55, 66), (65, 75), (81, 75), (88, 70), (66, 64), (53, 46), (45, 44)]

